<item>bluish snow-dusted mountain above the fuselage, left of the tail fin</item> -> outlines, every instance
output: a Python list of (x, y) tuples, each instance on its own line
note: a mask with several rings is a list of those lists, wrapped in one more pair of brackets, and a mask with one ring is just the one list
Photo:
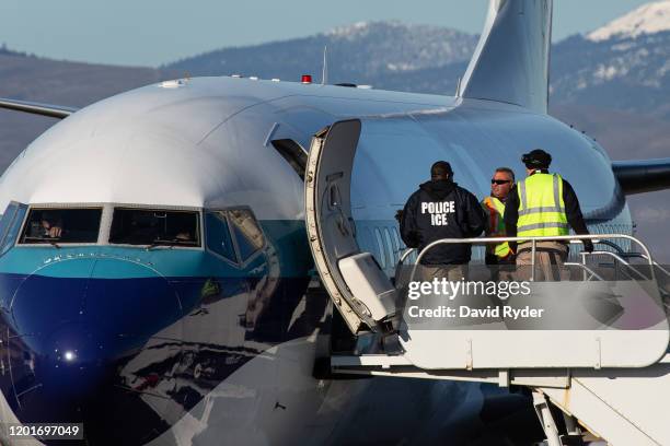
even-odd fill
[(373, 83), (388, 74), (470, 59), (477, 37), (453, 30), (396, 22), (361, 22), (304, 38), (241, 48), (222, 48), (165, 68), (193, 75), (241, 73), (298, 81), (303, 73), (321, 79), (327, 47), (331, 83)]

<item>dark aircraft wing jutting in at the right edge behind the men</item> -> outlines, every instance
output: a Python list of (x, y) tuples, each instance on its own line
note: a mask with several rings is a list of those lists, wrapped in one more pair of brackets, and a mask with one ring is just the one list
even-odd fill
[(670, 188), (670, 157), (615, 161), (612, 171), (625, 195)]

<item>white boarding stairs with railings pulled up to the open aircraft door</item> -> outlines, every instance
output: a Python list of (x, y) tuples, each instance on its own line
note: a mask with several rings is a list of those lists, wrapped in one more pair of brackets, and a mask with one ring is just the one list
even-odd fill
[[(586, 238), (592, 239), (598, 250), (571, 256), (565, 263), (571, 270), (569, 280), (538, 281), (538, 243), (561, 239), (579, 246)], [(443, 239), (418, 256), (406, 251), (396, 271), (404, 270), (409, 277), (403, 280), (403, 273), (397, 273), (397, 286), (368, 253), (339, 259), (346, 292), (334, 300), (335, 307), (343, 309), (337, 303), (346, 300), (349, 304), (345, 308), (350, 310), (345, 317), (349, 318), (358, 318), (362, 308), (357, 333), (366, 338), (368, 330), (376, 332), (382, 348), (373, 353), (333, 354), (331, 373), (339, 377), (377, 375), (525, 386), (533, 391), (547, 446), (586, 444), (581, 442), (587, 433), (614, 446), (670, 445), (665, 410), (670, 401), (668, 301), (667, 290), (658, 285), (667, 286), (670, 273), (634, 237), (531, 238), (532, 262), (524, 278), (533, 295), (540, 296), (535, 303), (565, 302), (563, 307), (545, 305), (546, 312), (556, 315), (547, 327), (542, 321), (523, 325), (505, 316), (472, 325), (458, 318), (453, 322), (440, 320), (437, 326), (407, 322), (412, 301), (403, 302), (403, 290), (415, 280), (427, 250), (439, 244), (503, 240), (520, 238)], [(621, 240), (626, 243), (615, 243)], [(637, 245), (640, 253), (620, 248), (626, 244)], [(404, 265), (411, 258), (414, 265)], [(505, 304), (521, 308), (528, 302), (519, 297)], [(482, 296), (463, 298), (452, 302), (471, 303)], [(480, 302), (478, 307), (483, 306)], [(551, 406), (561, 409), (564, 420), (554, 418), (556, 411), (553, 414)]]

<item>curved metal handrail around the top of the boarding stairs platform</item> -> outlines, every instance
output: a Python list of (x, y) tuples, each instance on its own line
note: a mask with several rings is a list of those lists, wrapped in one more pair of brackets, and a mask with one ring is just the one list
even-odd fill
[[(644, 274), (639, 273), (637, 270), (635, 270), (633, 267), (631, 267), (629, 263), (627, 263), (621, 256), (617, 256), (614, 253), (610, 253), (610, 251), (597, 251), (596, 254), (605, 254), (605, 255), (610, 255), (612, 257), (619, 258), (620, 261), (622, 261), (624, 265), (626, 265), (627, 267), (629, 267), (632, 270), (636, 271), (638, 274), (640, 274), (644, 280), (655, 280), (655, 261), (651, 258), (651, 254), (649, 251), (649, 248), (647, 248), (647, 246), (640, 242), (639, 239), (633, 237), (632, 235), (626, 235), (626, 234), (587, 234), (587, 235), (557, 235), (557, 236), (542, 236), (542, 237), (476, 237), (476, 238), (441, 238), (439, 240), (435, 240), (432, 243), (430, 243), (428, 246), (426, 246), (417, 256), (416, 261), (414, 263), (414, 267), (412, 268), (412, 273), (409, 274), (409, 281), (412, 281), (414, 279), (414, 275), (416, 274), (416, 268), (418, 265), (420, 265), (421, 259), (424, 258), (424, 256), (426, 255), (426, 253), (430, 249), (432, 249), (435, 246), (438, 245), (461, 245), (461, 244), (470, 244), (470, 245), (488, 245), (488, 244), (499, 244), (499, 243), (504, 243), (504, 242), (521, 242), (521, 243), (530, 243), (531, 244), (531, 277), (530, 280), (534, 281), (535, 280), (535, 267), (536, 267), (536, 261), (535, 261), (535, 257), (538, 254), (538, 243), (539, 242), (566, 242), (568, 244), (573, 244), (573, 245), (581, 245), (584, 244), (584, 240), (592, 240), (593, 244), (600, 244), (600, 243), (604, 243), (607, 246), (616, 246), (615, 244), (608, 242), (607, 238), (614, 238), (614, 239), (627, 239), (631, 242), (634, 242), (635, 244), (637, 244), (642, 250), (644, 251), (644, 254), (639, 254), (639, 257), (644, 258), (647, 260), (647, 262), (649, 263), (650, 267), (650, 271), (651, 271), (651, 278), (646, 278)], [(617, 247), (617, 246), (616, 246)], [(619, 248), (619, 247), (617, 247)], [(411, 248), (405, 250), (398, 262), (396, 266), (396, 283), (397, 283), (397, 271), (400, 271), (401, 267), (403, 266), (404, 261), (407, 259), (407, 257), (409, 257), (409, 255), (412, 253), (414, 253), (416, 249), (415, 248)], [(617, 249), (620, 253), (622, 253), (621, 248)], [(584, 263), (586, 263), (586, 257), (585, 257), (585, 253), (582, 253), (582, 261)], [(575, 265), (579, 265), (579, 263), (575, 263)], [(658, 263), (656, 263), (656, 266), (658, 266)], [(660, 266), (658, 266), (660, 268)], [(661, 270), (663, 270), (661, 268)], [(668, 271), (663, 270), (666, 273), (668, 273)], [(592, 271), (591, 271), (592, 272)]]

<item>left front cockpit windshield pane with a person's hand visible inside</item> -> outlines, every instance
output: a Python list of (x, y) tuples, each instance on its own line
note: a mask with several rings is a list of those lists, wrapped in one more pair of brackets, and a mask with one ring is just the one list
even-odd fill
[(97, 243), (102, 209), (31, 209), (20, 244)]

